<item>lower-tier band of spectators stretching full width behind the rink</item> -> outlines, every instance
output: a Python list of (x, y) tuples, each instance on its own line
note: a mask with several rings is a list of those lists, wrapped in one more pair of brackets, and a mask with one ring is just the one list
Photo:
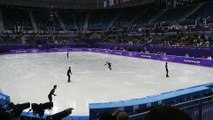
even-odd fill
[[(213, 36), (208, 36), (203, 32), (186, 33), (154, 33), (154, 34), (134, 34), (128, 32), (89, 32), (54, 34), (54, 35), (6, 35), (0, 37), (0, 44), (32, 44), (39, 41), (44, 43), (81, 43), (89, 39), (98, 39), (102, 43), (112, 44), (137, 44), (137, 45), (160, 45), (160, 46), (187, 46), (187, 47), (211, 47)], [(42, 44), (42, 43), (40, 43)]]

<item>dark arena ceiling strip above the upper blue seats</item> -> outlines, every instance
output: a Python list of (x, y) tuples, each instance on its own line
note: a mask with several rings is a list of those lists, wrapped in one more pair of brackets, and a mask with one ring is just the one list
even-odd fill
[[(106, 2), (104, 2), (106, 1)], [(113, 1), (113, 5), (109, 5)], [(0, 5), (61, 9), (108, 9), (153, 3), (155, 0), (0, 0)], [(107, 6), (104, 7), (104, 4)]]

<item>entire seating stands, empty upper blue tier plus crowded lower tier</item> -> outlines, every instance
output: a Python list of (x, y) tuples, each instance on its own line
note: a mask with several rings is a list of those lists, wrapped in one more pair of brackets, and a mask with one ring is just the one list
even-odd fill
[(198, 1), (164, 10), (153, 4), (90, 11), (2, 7), (0, 45), (96, 42), (209, 48), (213, 41), (212, 6), (211, 1)]

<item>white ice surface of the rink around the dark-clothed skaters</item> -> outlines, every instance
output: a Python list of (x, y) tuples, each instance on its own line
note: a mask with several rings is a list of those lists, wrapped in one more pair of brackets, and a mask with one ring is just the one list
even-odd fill
[(166, 78), (165, 62), (154, 60), (89, 52), (70, 52), (69, 59), (65, 52), (1, 55), (0, 91), (15, 104), (44, 103), (56, 84), (54, 107), (47, 114), (73, 107), (72, 115), (88, 115), (89, 103), (142, 98), (213, 81), (213, 68), (178, 63), (168, 63), (168, 68)]

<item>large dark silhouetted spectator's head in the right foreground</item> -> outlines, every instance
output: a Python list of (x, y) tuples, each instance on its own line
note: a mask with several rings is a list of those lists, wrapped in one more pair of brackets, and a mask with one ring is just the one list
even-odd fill
[(153, 108), (144, 120), (192, 120), (185, 112), (170, 106)]

